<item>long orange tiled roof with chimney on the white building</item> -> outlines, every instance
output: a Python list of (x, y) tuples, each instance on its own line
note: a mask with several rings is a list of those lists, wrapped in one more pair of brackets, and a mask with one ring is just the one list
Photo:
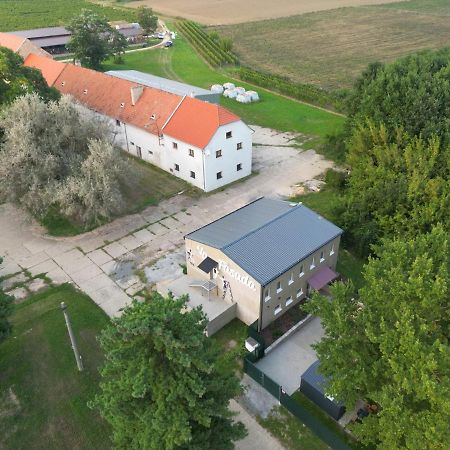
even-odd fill
[[(73, 64), (30, 55), (25, 65), (40, 69), (49, 85), (94, 111), (153, 134), (163, 131), (198, 148), (205, 148), (220, 126), (240, 120), (221, 106)], [(141, 87), (142, 94), (133, 106), (131, 89), (134, 87)]]

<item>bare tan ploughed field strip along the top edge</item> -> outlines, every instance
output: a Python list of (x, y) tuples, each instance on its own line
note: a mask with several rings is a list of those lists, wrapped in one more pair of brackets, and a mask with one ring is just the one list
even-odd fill
[(206, 25), (225, 25), (395, 1), (398, 0), (138, 0), (127, 6), (148, 5), (168, 16), (180, 16)]

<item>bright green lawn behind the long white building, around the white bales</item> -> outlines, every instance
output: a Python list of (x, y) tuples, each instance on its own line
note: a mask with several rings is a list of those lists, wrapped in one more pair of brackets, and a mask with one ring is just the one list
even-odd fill
[[(170, 26), (170, 24), (169, 24)], [(154, 49), (127, 53), (124, 64), (108, 61), (104, 70), (140, 70), (203, 88), (225, 83), (232, 72), (214, 70), (192, 49), (181, 35), (170, 49)], [(233, 81), (233, 80), (231, 80)], [(290, 100), (278, 94), (238, 81), (246, 89), (256, 89), (261, 101), (249, 105), (222, 98), (221, 104), (241, 116), (247, 123), (280, 131), (293, 131), (324, 137), (338, 131), (344, 118), (314, 106)]]

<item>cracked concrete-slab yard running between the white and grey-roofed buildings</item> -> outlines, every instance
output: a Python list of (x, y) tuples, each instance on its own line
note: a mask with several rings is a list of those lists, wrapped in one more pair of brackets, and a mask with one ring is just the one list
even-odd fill
[[(199, 198), (177, 195), (83, 235), (46, 236), (26, 212), (0, 205), (0, 276), (28, 271), (46, 274), (54, 283), (72, 282), (108, 315), (120, 314), (140, 290), (170, 280), (179, 270), (175, 262), (183, 260), (185, 234), (258, 197), (288, 197), (299, 183), (332, 167), (314, 151), (291, 146), (292, 134), (252, 128), (253, 176)], [(171, 267), (148, 270), (172, 253)]]

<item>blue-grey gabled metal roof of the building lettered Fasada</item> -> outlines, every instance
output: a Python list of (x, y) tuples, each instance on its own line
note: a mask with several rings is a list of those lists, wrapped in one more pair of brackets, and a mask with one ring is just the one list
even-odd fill
[(264, 286), (341, 234), (304, 205), (262, 198), (187, 237), (222, 250)]

